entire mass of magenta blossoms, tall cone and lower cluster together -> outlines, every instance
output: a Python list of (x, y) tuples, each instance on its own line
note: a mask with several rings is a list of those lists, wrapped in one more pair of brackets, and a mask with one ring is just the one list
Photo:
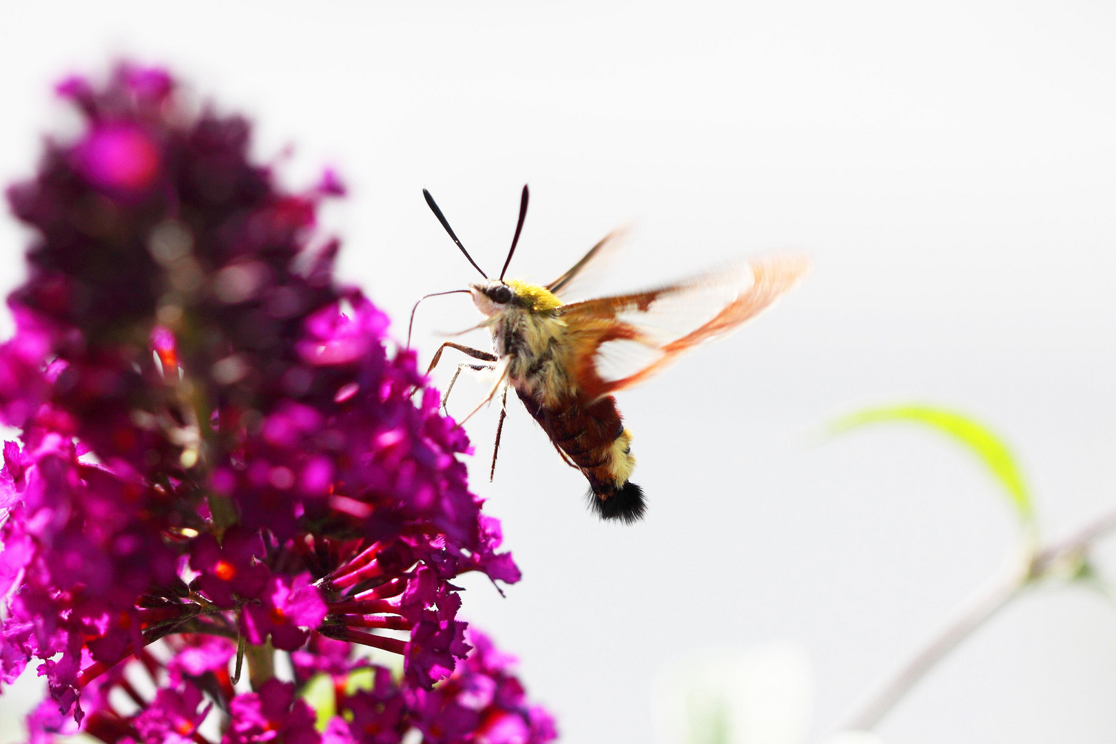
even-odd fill
[[(39, 659), (35, 741), (203, 744), (211, 719), (230, 744), (555, 738), (458, 618), (454, 577), (519, 570), (469, 492), (464, 433), (333, 279), (315, 220), (337, 177), (285, 193), (247, 120), (162, 70), (58, 90), (87, 127), (8, 192), (35, 238), (0, 346), (0, 422), (21, 432), (0, 472), (0, 685)], [(301, 698), (320, 675), (327, 722)]]

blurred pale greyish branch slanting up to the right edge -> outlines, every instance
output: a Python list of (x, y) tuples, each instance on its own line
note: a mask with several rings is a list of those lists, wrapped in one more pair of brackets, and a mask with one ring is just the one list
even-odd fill
[(970, 599), (937, 634), (922, 646), (899, 669), (885, 679), (877, 690), (849, 715), (840, 731), (868, 731), (906, 695), (939, 661), (981, 627), (1000, 609), (1018, 597), (1030, 584), (1056, 576), (1070, 564), (1074, 577), (1093, 543), (1116, 530), (1116, 509), (1113, 509), (1038, 551), (1026, 549), (1022, 560), (1013, 561), (1014, 568), (1006, 578), (987, 584)]

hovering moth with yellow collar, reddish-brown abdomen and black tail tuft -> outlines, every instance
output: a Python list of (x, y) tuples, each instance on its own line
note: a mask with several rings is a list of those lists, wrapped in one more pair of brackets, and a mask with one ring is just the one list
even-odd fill
[[(588, 501), (605, 520), (632, 523), (646, 509), (643, 490), (632, 483), (635, 456), (632, 434), (624, 427), (613, 393), (642, 383), (693, 347), (735, 330), (789, 290), (806, 272), (805, 255), (780, 253), (739, 260), (663, 287), (579, 302), (564, 302), (576, 283), (614, 251), (619, 231), (594, 245), (569, 271), (546, 286), (504, 279), (527, 216), (529, 192), (523, 186), (519, 221), (498, 279), (488, 274), (458, 240), (430, 192), (426, 204), (484, 281), (469, 289), (435, 292), (419, 300), (469, 293), (485, 319), (477, 328), (492, 332), (493, 350), (482, 351), (446, 341), (439, 347), (427, 374), (446, 348), (477, 363), (463, 363), (442, 398), (445, 406), (464, 368), (493, 370), (496, 381), (481, 406), (501, 392), (492, 471), (507, 416), (508, 388), (550, 437), (558, 454), (589, 481)], [(415, 309), (419, 307), (415, 303)], [(414, 323), (414, 310), (411, 312)], [(407, 329), (410, 346), (411, 329)]]

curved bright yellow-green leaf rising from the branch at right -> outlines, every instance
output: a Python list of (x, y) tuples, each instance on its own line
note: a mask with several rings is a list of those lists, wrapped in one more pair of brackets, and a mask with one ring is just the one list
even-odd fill
[(1008, 493), (1011, 505), (1024, 524), (1035, 521), (1035, 510), (1023, 476), (1016, 465), (1008, 445), (988, 427), (953, 410), (930, 406), (884, 406), (859, 410), (837, 419), (830, 427), (834, 434), (847, 432), (865, 424), (912, 422), (934, 428), (960, 442), (977, 455)]

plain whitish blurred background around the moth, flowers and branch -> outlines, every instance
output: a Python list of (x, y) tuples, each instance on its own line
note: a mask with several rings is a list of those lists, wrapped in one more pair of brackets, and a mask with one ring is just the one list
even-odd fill
[[(1116, 502), (1114, 33), (1116, 9), (1076, 0), (6, 2), (0, 180), (74, 126), (54, 81), (129, 57), (256, 119), (258, 157), (292, 186), (338, 168), (341, 274), (401, 338), (417, 297), (475, 278), (423, 187), (491, 270), (528, 182), (510, 274), (541, 281), (625, 221), (605, 289), (811, 252), (775, 309), (620, 396), (638, 525), (587, 513), (518, 402), (491, 484), (496, 408), (469, 423), (473, 486), (525, 578), (507, 598), (469, 583), (463, 612), (520, 656), (566, 742), (652, 741), (663, 669), (771, 644), (802, 649), (816, 737), (1001, 570), (1016, 529), (952, 443), (904, 427), (822, 443), (825, 422), (907, 400), (979, 417), (1020, 456), (1048, 538)], [(6, 292), (27, 240), (0, 221)], [(478, 319), (431, 300), (421, 357)], [(459, 390), (460, 416), (483, 388)], [(3, 696), (0, 741), (37, 694), (25, 675)], [(1109, 742), (1113, 699), (1116, 608), (1032, 592), (878, 733)]]

